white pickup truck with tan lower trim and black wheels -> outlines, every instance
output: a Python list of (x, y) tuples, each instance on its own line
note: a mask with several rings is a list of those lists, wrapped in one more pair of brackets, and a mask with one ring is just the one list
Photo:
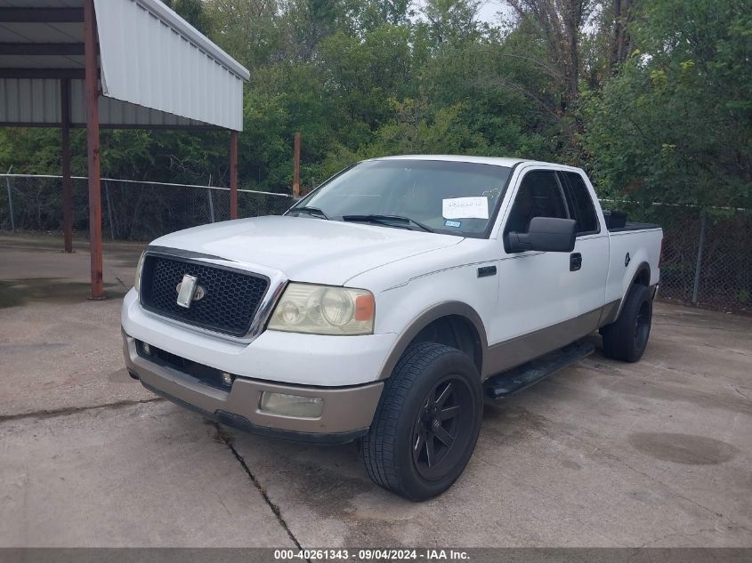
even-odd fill
[(569, 166), (360, 162), (284, 216), (152, 242), (123, 303), (125, 363), (239, 429), (359, 439), (377, 485), (430, 498), (473, 454), (484, 395), (586, 356), (598, 330), (610, 358), (642, 356), (662, 232), (623, 219)]

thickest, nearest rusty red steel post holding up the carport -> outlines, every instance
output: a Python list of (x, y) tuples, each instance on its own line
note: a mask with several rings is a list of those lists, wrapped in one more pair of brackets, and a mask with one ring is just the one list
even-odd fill
[(86, 148), (89, 168), (89, 253), (92, 259), (91, 299), (104, 299), (101, 258), (101, 185), (99, 145), (99, 83), (94, 0), (84, 1)]

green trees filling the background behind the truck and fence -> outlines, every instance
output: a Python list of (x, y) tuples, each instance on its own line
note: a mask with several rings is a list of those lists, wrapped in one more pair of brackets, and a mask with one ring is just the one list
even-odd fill
[[(288, 190), (400, 152), (586, 165), (604, 193), (750, 205), (750, 0), (170, 0), (250, 71), (241, 185)], [(101, 133), (108, 176), (227, 181), (226, 132)], [(85, 137), (73, 135), (74, 171)], [(0, 130), (0, 169), (59, 173), (60, 132)]]

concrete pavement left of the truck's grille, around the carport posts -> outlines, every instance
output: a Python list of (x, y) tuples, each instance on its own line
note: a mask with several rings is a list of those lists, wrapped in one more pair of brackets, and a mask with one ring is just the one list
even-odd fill
[(55, 237), (0, 237), (0, 416), (152, 397), (133, 385), (113, 330), (143, 245), (105, 245), (102, 302), (86, 299), (89, 254), (74, 247), (66, 254)]

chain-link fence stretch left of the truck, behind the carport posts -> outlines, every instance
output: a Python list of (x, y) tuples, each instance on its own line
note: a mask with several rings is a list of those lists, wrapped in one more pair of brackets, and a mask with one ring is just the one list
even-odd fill
[[(279, 215), (288, 194), (238, 190), (239, 217)], [(102, 237), (146, 241), (175, 230), (230, 219), (230, 189), (150, 181), (102, 179)], [(62, 178), (0, 174), (0, 230), (61, 231)], [(85, 178), (73, 179), (73, 229), (89, 230)]]

